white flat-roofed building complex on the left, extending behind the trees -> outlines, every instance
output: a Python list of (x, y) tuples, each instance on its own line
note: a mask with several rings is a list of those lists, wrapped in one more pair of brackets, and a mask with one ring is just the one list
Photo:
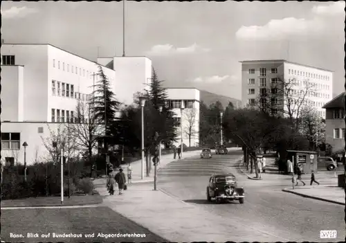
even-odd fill
[[(97, 63), (50, 44), (2, 44), (1, 55), (1, 163), (24, 163), (24, 141), (27, 163), (48, 156), (44, 138), (73, 122), (78, 102), (91, 98), (93, 84), (99, 80), (98, 64), (117, 100), (125, 105), (134, 101), (134, 93), (148, 89), (152, 79), (152, 62), (147, 57), (99, 58)], [(191, 107), (190, 100), (196, 105), (197, 93), (168, 90), (170, 104), (184, 100), (185, 107)], [(176, 111), (176, 118), (181, 118), (180, 109)], [(198, 136), (192, 140), (192, 145), (196, 143)]]

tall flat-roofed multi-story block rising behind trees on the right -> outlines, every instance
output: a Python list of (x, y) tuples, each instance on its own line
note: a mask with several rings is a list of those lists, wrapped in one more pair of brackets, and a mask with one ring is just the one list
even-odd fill
[(294, 83), (293, 97), (309, 89), (311, 92), (304, 98), (304, 105), (315, 107), (320, 116), (325, 118), (322, 106), (332, 98), (333, 71), (286, 60), (243, 61), (242, 104), (254, 104), (256, 98), (271, 89), (272, 84), (276, 84), (279, 79)]

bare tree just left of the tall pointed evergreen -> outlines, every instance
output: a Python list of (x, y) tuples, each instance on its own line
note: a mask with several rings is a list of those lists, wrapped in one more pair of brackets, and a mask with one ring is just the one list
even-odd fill
[(79, 151), (88, 154), (89, 161), (91, 161), (98, 136), (102, 136), (104, 132), (102, 125), (95, 119), (92, 105), (92, 103), (78, 102), (75, 116), (71, 118), (74, 123), (66, 125), (74, 138), (75, 146)]

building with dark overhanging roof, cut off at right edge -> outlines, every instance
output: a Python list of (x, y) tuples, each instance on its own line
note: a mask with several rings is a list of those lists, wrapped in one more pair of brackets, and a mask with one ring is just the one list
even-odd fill
[(340, 93), (323, 106), (326, 112), (326, 143), (334, 153), (342, 154), (345, 149), (345, 93)]

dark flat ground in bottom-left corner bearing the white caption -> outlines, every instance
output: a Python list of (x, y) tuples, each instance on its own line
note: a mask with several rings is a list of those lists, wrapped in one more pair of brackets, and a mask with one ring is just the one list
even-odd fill
[[(22, 237), (10, 237), (10, 233)], [(28, 237), (37, 233), (39, 237)], [(42, 237), (42, 234), (50, 237)], [(75, 234), (70, 237), (52, 237), (55, 234)], [(98, 234), (115, 234), (98, 237)], [(138, 234), (138, 237), (117, 237), (116, 234)], [(87, 237), (85, 234), (94, 234)], [(144, 237), (140, 235), (145, 234)], [(113, 210), (94, 208), (39, 208), (1, 210), (1, 240), (6, 242), (167, 242), (150, 233)]]

